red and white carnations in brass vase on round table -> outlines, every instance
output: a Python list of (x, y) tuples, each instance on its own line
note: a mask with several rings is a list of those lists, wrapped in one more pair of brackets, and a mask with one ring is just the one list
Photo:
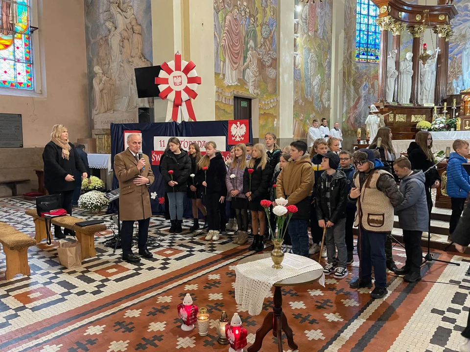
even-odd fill
[[(273, 260), (274, 265), (272, 266), (274, 269), (282, 269), (282, 260), (284, 259), (284, 252), (282, 251), (282, 242), (284, 242), (284, 235), (285, 231), (287, 230), (287, 226), (289, 225), (289, 221), (292, 218), (294, 213), (297, 213), (298, 209), (295, 205), (287, 205), (288, 201), (284, 198), (277, 198), (275, 200), (276, 206), (273, 208), (273, 213), (276, 215), (276, 224), (278, 225), (278, 234), (273, 232), (271, 228), (271, 223), (268, 221), (269, 230), (272, 234), (272, 241), (274, 244), (274, 249), (271, 252), (271, 259)], [(261, 206), (264, 208), (268, 219), (271, 218), (271, 211), (269, 207), (272, 204), (270, 200), (261, 200)]]

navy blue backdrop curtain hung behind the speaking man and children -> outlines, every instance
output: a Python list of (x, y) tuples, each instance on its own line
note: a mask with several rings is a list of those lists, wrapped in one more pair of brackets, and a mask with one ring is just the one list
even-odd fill
[[(249, 140), (253, 143), (251, 120), (249, 128)], [(178, 137), (206, 137), (206, 136), (225, 136), (227, 137), (229, 130), (228, 121), (200, 121), (200, 122), (161, 122), (161, 123), (134, 123), (134, 124), (111, 124), (111, 162), (114, 169), (114, 157), (124, 151), (124, 132), (125, 131), (141, 131), (142, 133), (142, 152), (148, 155), (149, 159), (152, 158), (153, 137), (154, 136), (167, 136)], [(220, 146), (218, 146), (220, 148)], [(230, 150), (230, 146), (226, 144), (226, 151)], [(204, 149), (202, 149), (204, 152)], [(152, 165), (152, 171), (155, 175), (155, 181), (149, 188), (150, 194), (155, 195), (154, 199), (150, 198), (153, 215), (163, 215), (165, 212), (165, 205), (160, 204), (159, 199), (164, 197), (164, 178), (160, 174), (160, 166)], [(118, 179), (113, 177), (113, 189), (119, 188)], [(167, 200), (166, 200), (167, 201)], [(111, 205), (108, 212), (117, 213), (117, 205)], [(191, 199), (185, 202), (185, 218), (192, 219), (192, 205)]]

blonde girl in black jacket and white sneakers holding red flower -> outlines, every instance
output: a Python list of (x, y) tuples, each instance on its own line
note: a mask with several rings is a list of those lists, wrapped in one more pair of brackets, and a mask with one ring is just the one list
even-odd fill
[(202, 197), (209, 222), (206, 241), (218, 241), (220, 238), (219, 202), (223, 203), (227, 196), (227, 185), (225, 184), (227, 166), (225, 166), (222, 154), (217, 152), (216, 148), (215, 142), (207, 142), (206, 155), (197, 163), (196, 182), (202, 186)]

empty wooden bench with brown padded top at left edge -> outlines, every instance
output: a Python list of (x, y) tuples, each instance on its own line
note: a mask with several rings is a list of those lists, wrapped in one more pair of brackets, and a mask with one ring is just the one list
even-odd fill
[(5, 279), (13, 279), (16, 274), (30, 275), (28, 248), (36, 245), (36, 241), (13, 226), (0, 222), (0, 243), (6, 257)]

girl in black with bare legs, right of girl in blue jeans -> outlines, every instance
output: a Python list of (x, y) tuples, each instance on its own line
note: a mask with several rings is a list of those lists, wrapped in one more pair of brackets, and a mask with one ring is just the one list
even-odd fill
[[(188, 148), (189, 158), (191, 159), (191, 174), (188, 178), (188, 191), (186, 193), (187, 197), (192, 200), (192, 217), (193, 223), (192, 226), (189, 228), (191, 231), (196, 231), (199, 229), (199, 217), (198, 217), (198, 209), (201, 211), (202, 215), (204, 215), (204, 219), (206, 219), (206, 207), (202, 204), (202, 192), (201, 192), (201, 185), (196, 181), (196, 173), (197, 173), (197, 163), (201, 160), (202, 155), (199, 149), (199, 145), (197, 143), (189, 144)], [(207, 228), (208, 224), (205, 221), (204, 228)]]

